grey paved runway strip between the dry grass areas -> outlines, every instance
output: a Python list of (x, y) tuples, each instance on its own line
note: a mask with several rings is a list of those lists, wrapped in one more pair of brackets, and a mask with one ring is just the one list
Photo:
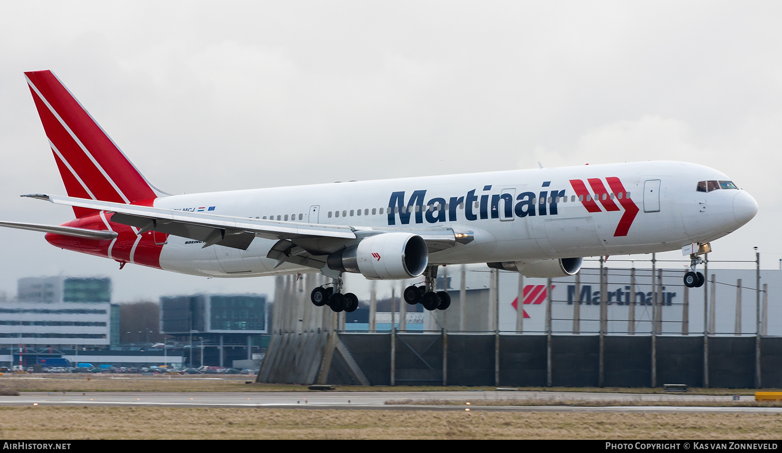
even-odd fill
[[(752, 401), (751, 396), (741, 400)], [(388, 404), (389, 401), (426, 401), (428, 404)], [(457, 401), (459, 404), (441, 404)], [(526, 401), (530, 405), (485, 405), (497, 401)], [(598, 404), (580, 407), (572, 402)], [(604, 404), (612, 405), (600, 405)], [(644, 405), (670, 403), (670, 405)], [(468, 404), (469, 403), (469, 404)], [(678, 406), (676, 404), (694, 404)], [(719, 406), (700, 406), (719, 404)], [(221, 407), (221, 408), (303, 408), (376, 409), (504, 412), (754, 412), (782, 413), (782, 408), (740, 407), (732, 396), (690, 394), (610, 394), (587, 392), (22, 392), (20, 396), (0, 396), (4, 406), (138, 406), (138, 407)], [(539, 405), (540, 404), (540, 405)], [(617, 405), (629, 404), (629, 405)]]

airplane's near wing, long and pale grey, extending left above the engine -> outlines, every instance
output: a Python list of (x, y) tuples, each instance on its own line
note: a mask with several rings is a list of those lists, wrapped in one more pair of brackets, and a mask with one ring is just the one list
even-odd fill
[(421, 235), (427, 243), (429, 251), (447, 249), (457, 242), (468, 243), (472, 240), (472, 232), (456, 233), (448, 227), (403, 229), (307, 224), (170, 210), (71, 196), (45, 194), (24, 196), (66, 206), (113, 212), (111, 221), (136, 227), (139, 234), (154, 230), (203, 241), (203, 247), (218, 244), (247, 250), (249, 244), (253, 242), (253, 238), (259, 236), (266, 239), (290, 241), (296, 246), (300, 246), (307, 252), (307, 255), (311, 256), (332, 253), (357, 239), (391, 231), (414, 232)]

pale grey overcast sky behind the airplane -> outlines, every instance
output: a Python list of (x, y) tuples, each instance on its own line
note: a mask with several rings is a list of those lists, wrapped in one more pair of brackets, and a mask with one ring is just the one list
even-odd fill
[[(65, 194), (23, 76), (49, 69), (167, 192), (683, 160), (759, 203), (712, 259), (778, 268), (780, 23), (780, 2), (0, 0), (0, 218), (73, 217), (19, 197)], [(108, 275), (115, 301), (273, 287), (0, 240), (9, 295), (59, 274)]]

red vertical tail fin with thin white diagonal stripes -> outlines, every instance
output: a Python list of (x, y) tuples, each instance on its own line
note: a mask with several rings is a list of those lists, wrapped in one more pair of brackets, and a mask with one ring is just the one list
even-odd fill
[[(144, 178), (52, 71), (24, 74), (69, 196), (135, 203), (165, 195)], [(74, 207), (77, 218), (93, 212)]]

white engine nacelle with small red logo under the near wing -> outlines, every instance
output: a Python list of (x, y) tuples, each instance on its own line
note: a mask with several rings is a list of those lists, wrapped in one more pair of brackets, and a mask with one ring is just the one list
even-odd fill
[(328, 255), (326, 264), (335, 271), (361, 274), (370, 280), (412, 279), (425, 271), (429, 250), (419, 235), (382, 233)]

